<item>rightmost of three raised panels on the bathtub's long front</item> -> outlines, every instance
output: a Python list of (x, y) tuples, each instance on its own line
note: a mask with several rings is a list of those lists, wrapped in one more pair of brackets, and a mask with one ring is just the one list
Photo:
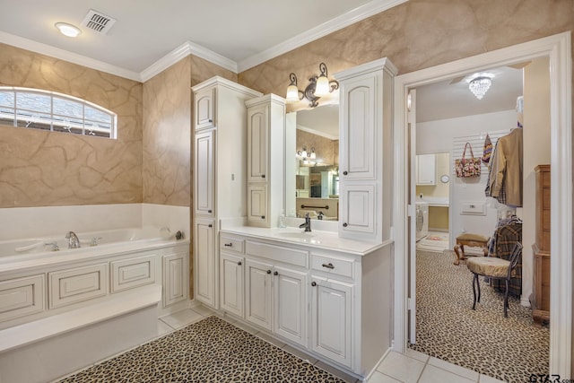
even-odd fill
[(111, 262), (111, 292), (121, 292), (155, 282), (155, 256)]

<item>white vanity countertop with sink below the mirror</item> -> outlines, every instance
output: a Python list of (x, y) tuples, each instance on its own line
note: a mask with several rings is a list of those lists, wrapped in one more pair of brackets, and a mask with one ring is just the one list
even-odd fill
[(334, 231), (305, 232), (298, 228), (257, 228), (251, 226), (230, 226), (223, 228), (222, 233), (246, 235), (257, 239), (271, 239), (283, 243), (304, 245), (312, 248), (333, 249), (344, 251), (357, 256), (365, 256), (370, 252), (387, 246), (387, 242), (367, 242), (353, 239), (339, 238)]

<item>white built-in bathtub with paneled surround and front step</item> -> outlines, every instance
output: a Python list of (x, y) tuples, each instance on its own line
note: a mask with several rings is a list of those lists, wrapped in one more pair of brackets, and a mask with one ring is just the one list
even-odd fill
[(0, 381), (57, 379), (188, 307), (188, 239), (151, 226), (76, 235), (81, 248), (65, 233), (0, 241)]

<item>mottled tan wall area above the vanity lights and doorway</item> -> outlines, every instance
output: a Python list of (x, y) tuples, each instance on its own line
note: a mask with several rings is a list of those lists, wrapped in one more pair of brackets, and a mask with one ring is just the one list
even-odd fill
[(331, 75), (388, 57), (406, 74), (566, 30), (572, 0), (409, 0), (250, 68), (239, 83), (284, 96), (291, 72), (306, 79), (321, 62)]

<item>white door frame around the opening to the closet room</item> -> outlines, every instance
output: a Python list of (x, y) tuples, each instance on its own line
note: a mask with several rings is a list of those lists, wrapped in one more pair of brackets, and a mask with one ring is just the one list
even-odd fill
[(395, 239), (394, 344), (403, 353), (407, 345), (408, 164), (407, 94), (409, 89), (436, 83), (494, 66), (550, 58), (551, 111), (551, 307), (550, 373), (571, 375), (572, 346), (572, 54), (570, 31), (466, 57), (395, 78), (393, 222)]

